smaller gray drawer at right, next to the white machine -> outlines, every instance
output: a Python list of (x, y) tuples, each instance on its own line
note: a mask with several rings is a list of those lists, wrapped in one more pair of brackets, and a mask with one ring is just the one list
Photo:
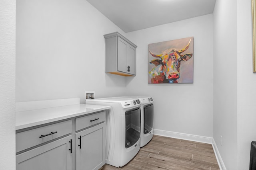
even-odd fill
[(106, 121), (106, 111), (76, 118), (76, 131)]

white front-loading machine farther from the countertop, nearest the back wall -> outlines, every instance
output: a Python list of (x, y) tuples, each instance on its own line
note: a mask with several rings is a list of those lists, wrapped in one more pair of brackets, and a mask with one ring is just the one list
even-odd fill
[(141, 106), (141, 126), (140, 126), (140, 147), (144, 147), (153, 137), (154, 128), (154, 105), (153, 98), (146, 96), (121, 96), (118, 98), (139, 99)]

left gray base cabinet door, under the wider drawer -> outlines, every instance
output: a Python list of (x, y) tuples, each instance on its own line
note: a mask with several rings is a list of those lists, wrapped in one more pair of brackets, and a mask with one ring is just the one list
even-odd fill
[(16, 170), (71, 170), (71, 135), (16, 155)]

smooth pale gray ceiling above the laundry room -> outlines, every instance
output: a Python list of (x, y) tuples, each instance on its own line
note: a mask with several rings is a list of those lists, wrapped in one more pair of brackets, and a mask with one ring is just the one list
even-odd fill
[(212, 14), (216, 0), (87, 0), (124, 32)]

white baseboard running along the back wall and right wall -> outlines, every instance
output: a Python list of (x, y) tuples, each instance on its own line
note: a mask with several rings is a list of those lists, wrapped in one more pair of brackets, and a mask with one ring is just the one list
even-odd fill
[(184, 140), (188, 140), (188, 141), (196, 141), (196, 142), (201, 142), (201, 143), (212, 144), (212, 148), (214, 150), (218, 165), (220, 166), (220, 170), (226, 170), (224, 162), (220, 156), (220, 152), (218, 151), (217, 145), (212, 137), (204, 137), (204, 136), (199, 136), (199, 135), (190, 135), (190, 134), (186, 134), (186, 133), (163, 131), (163, 130), (159, 130), (159, 129), (154, 129), (153, 134), (165, 136), (165, 137), (184, 139)]

